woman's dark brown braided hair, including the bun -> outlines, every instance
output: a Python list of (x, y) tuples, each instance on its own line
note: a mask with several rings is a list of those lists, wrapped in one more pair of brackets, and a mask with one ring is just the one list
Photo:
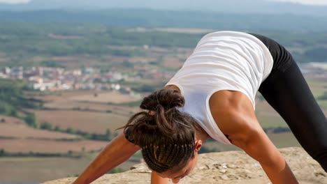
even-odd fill
[(140, 105), (148, 112), (133, 115), (124, 126), (126, 138), (142, 148), (143, 158), (153, 171), (181, 169), (194, 157), (198, 124), (177, 109), (183, 105), (184, 98), (178, 91), (155, 91)]

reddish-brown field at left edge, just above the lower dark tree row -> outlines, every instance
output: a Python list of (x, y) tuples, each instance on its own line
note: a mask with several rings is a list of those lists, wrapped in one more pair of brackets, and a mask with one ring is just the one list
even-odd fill
[(99, 151), (107, 141), (85, 140), (78, 135), (30, 128), (20, 119), (0, 116), (0, 148), (8, 153), (68, 153)]

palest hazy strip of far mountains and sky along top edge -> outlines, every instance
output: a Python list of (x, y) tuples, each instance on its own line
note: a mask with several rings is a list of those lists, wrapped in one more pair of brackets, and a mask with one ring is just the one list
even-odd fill
[[(306, 3), (311, 2), (311, 5)], [(324, 5), (324, 6), (320, 6)], [(204, 13), (327, 16), (327, 1), (308, 0), (0, 0), (1, 11), (151, 9)]]

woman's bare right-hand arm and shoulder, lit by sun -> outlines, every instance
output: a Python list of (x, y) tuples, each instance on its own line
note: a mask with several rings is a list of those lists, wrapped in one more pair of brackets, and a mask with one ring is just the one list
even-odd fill
[[(218, 127), (232, 144), (257, 160), (272, 183), (298, 183), (286, 161), (256, 119), (252, 102), (238, 91), (213, 96), (210, 109)], [(213, 101), (215, 100), (215, 101)]]

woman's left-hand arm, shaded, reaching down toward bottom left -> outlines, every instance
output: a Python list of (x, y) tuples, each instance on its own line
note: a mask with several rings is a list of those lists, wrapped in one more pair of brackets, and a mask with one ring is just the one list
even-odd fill
[(97, 178), (106, 174), (110, 169), (129, 159), (131, 155), (140, 149), (139, 146), (132, 144), (124, 133), (110, 141), (106, 148), (89, 164), (89, 167), (78, 176), (75, 184), (85, 184), (95, 181)]

